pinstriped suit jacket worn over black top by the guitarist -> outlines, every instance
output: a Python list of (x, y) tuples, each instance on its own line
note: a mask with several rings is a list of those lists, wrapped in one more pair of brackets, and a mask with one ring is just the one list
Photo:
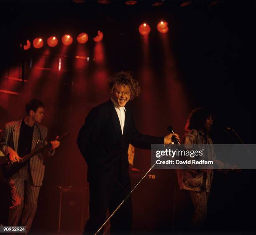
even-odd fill
[[(20, 126), (22, 120), (8, 122), (5, 124), (5, 130), (3, 132), (3, 137), (0, 141), (0, 150), (7, 155), (8, 154), (8, 147), (12, 148), (16, 152), (18, 151), (18, 142), (20, 136)], [(32, 138), (32, 147), (31, 153), (46, 145), (46, 137), (47, 137), (47, 128), (35, 123), (34, 131), (33, 131), (33, 138)], [(54, 152), (48, 153), (48, 155), (53, 155)], [(42, 181), (44, 178), (44, 163), (43, 163), (43, 153), (39, 153), (35, 155), (30, 160), (30, 168), (31, 168), (31, 176), (33, 180), (33, 184), (35, 186), (42, 185)], [(12, 180), (18, 180), (18, 173), (15, 173), (11, 176)]]

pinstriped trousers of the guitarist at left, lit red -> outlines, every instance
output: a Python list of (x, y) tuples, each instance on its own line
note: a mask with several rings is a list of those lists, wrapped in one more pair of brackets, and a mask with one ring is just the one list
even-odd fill
[[(29, 232), (36, 214), (41, 186), (34, 186), (29, 164), (9, 179), (12, 205), (9, 208), (9, 226), (26, 226)], [(20, 221), (20, 224), (18, 224)]]

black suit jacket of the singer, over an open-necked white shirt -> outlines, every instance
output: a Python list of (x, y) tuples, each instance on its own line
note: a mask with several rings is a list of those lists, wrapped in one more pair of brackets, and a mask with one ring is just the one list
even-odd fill
[(164, 144), (164, 137), (142, 135), (126, 108), (123, 135), (113, 102), (109, 100), (89, 112), (79, 131), (77, 145), (88, 165), (88, 182), (115, 183), (120, 177), (130, 183), (128, 147), (150, 149), (151, 144)]

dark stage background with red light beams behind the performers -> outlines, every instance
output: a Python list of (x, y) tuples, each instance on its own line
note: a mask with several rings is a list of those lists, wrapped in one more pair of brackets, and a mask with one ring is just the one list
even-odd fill
[[(71, 0), (0, 2), (0, 129), (8, 121), (24, 117), (26, 101), (36, 97), (46, 105), (42, 124), (49, 129), (49, 140), (71, 133), (54, 158), (47, 160), (44, 185), (87, 185), (87, 166), (76, 146), (77, 134), (89, 110), (108, 100), (108, 78), (120, 70), (131, 70), (141, 85), (141, 96), (128, 104), (141, 133), (163, 136), (172, 125), (182, 136), (189, 112), (205, 106), (216, 113), (212, 133), (215, 143), (233, 142), (223, 126), (234, 128), (245, 143), (255, 143), (255, 1), (192, 1), (186, 7), (181, 7), (184, 1), (179, 0), (164, 1), (159, 7), (153, 7), (152, 2), (138, 1), (133, 6), (123, 1), (109, 5)], [(161, 20), (168, 22), (166, 34), (156, 29)], [(147, 38), (138, 32), (144, 22), (151, 27)], [(104, 34), (100, 43), (92, 40), (98, 30)], [(89, 35), (84, 45), (76, 41), (81, 32)], [(73, 37), (68, 47), (61, 44), (66, 33)], [(46, 45), (52, 35), (59, 40), (54, 48)], [(20, 43), (27, 39), (32, 42), (35, 37), (43, 38), (41, 49), (20, 49)], [(90, 60), (77, 59), (77, 55)], [(149, 151), (136, 149), (134, 166), (147, 170), (149, 158)], [(162, 224), (155, 222), (153, 229), (148, 223), (145, 231), (172, 229), (172, 209), (159, 202), (165, 194), (163, 189), (168, 188), (171, 195), (174, 192), (175, 173), (166, 172), (158, 171), (159, 183), (145, 183), (133, 198), (136, 204), (137, 199), (146, 197), (144, 189), (156, 188), (146, 194), (152, 197), (153, 207), (150, 200), (145, 206), (152, 207), (152, 216), (158, 208)], [(216, 173), (207, 228), (217, 232), (253, 231), (254, 182), (253, 170)], [(41, 201), (38, 213), (44, 206)], [(40, 220), (38, 213), (36, 219)], [(157, 216), (154, 221), (158, 221)], [(166, 223), (169, 225), (164, 227)]]

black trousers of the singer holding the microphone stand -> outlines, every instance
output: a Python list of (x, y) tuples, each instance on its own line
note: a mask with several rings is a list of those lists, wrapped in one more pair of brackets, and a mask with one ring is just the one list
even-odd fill
[[(124, 186), (121, 183), (112, 185), (90, 182), (90, 218), (87, 221), (84, 234), (95, 234), (106, 220), (106, 213), (118, 207), (124, 198), (130, 193), (131, 184)], [(131, 197), (120, 207), (115, 215), (110, 219), (111, 234), (131, 234), (132, 225), (132, 203)], [(103, 228), (99, 234), (103, 233)]]

